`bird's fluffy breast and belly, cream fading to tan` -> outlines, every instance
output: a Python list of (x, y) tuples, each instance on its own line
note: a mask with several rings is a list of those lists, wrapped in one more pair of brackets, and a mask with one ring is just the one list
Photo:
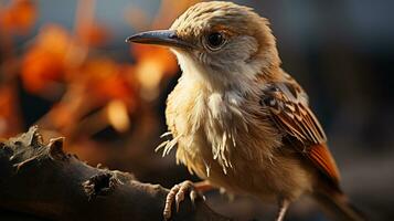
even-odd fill
[(299, 165), (278, 155), (280, 134), (260, 108), (258, 101), (236, 93), (177, 85), (166, 110), (172, 144), (178, 144), (177, 160), (237, 193), (266, 196), (294, 189), (289, 187), (297, 181), (291, 176), (301, 171)]

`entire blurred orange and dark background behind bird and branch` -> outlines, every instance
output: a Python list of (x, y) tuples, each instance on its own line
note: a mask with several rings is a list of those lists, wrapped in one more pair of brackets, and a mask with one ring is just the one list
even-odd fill
[[(163, 48), (129, 45), (166, 29), (196, 0), (0, 0), (0, 137), (38, 124), (65, 136), (89, 165), (172, 187), (190, 176), (167, 130), (166, 97), (180, 71)], [(235, 1), (268, 18), (283, 66), (306, 88), (342, 171), (343, 189), (371, 220), (394, 218), (394, 1)], [(269, 181), (269, 180), (267, 180)], [(275, 207), (206, 193), (236, 220), (273, 220)], [(327, 220), (308, 199), (287, 220)]]

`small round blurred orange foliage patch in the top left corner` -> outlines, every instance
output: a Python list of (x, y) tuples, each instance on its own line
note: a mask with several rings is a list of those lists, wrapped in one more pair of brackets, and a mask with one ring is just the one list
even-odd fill
[(13, 0), (0, 11), (0, 27), (8, 32), (24, 33), (34, 24), (36, 17), (34, 1)]

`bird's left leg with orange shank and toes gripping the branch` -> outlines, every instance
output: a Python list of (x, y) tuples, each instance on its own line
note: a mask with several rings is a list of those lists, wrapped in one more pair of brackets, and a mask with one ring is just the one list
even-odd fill
[(184, 196), (189, 192), (190, 200), (194, 203), (198, 197), (201, 197), (199, 192), (211, 190), (213, 187), (207, 181), (191, 182), (189, 180), (175, 185), (171, 188), (167, 194), (166, 206), (163, 210), (164, 220), (171, 218), (172, 203), (175, 201), (177, 212), (179, 211), (179, 204), (184, 200)]

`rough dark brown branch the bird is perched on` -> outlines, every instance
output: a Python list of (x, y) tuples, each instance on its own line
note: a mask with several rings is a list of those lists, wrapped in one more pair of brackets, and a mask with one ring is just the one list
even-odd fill
[[(132, 175), (95, 168), (44, 144), (38, 127), (0, 143), (0, 220), (162, 220), (168, 190)], [(7, 212), (4, 212), (7, 211)], [(228, 220), (203, 200), (182, 202), (173, 220)]]

